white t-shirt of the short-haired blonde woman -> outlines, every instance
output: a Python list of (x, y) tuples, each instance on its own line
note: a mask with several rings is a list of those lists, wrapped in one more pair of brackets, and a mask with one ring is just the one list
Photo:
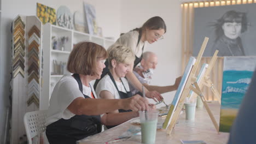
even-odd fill
[[(121, 77), (121, 80), (123, 81), (124, 85), (122, 82), (115, 81), (115, 83), (117, 83), (117, 87), (119, 91), (122, 91), (124, 93), (126, 93), (126, 91), (129, 92), (130, 88), (129, 88), (128, 81), (124, 77)], [(126, 88), (126, 91), (124, 86)], [(98, 82), (98, 85), (95, 90), (98, 97), (100, 97), (101, 91), (108, 91), (114, 95), (114, 99), (121, 99), (117, 91), (117, 88), (115, 88), (115, 85), (113, 81), (110, 79), (110, 76), (108, 74), (102, 77), (102, 79)]]

